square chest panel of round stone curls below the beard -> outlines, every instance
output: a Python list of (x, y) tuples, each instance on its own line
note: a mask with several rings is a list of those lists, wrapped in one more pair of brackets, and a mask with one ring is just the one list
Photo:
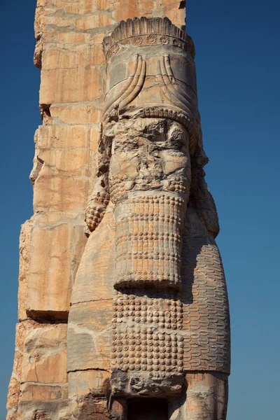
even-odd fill
[(182, 372), (181, 300), (174, 293), (126, 292), (114, 299), (112, 367), (150, 372), (151, 377)]

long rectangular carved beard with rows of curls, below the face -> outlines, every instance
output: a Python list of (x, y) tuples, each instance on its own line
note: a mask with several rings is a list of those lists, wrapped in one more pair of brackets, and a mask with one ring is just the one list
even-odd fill
[(175, 195), (139, 195), (115, 211), (118, 286), (181, 286), (184, 200)]

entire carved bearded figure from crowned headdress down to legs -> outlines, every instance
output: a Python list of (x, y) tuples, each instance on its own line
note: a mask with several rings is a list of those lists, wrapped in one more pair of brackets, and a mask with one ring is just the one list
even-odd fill
[(146, 419), (133, 414), (140, 400), (150, 414), (153, 402), (167, 407), (153, 419), (225, 420), (228, 295), (193, 41), (167, 18), (141, 18), (120, 22), (104, 52), (91, 233), (69, 314), (69, 418)]

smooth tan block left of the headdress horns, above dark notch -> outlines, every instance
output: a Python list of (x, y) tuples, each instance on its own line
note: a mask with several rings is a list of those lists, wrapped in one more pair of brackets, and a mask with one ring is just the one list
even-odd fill
[(78, 69), (43, 69), (40, 103), (92, 101), (102, 94), (100, 70), (95, 66)]

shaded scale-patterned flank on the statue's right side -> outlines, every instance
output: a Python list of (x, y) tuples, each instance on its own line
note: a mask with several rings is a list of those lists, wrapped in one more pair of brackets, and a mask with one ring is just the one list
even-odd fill
[(221, 255), (199, 225), (183, 246), (184, 369), (230, 373), (230, 317)]

